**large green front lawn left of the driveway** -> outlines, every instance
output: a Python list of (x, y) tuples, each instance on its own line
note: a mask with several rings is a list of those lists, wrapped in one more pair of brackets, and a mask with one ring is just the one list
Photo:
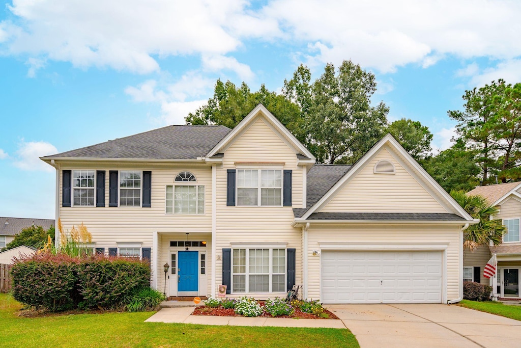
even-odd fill
[[(27, 318), (0, 294), (4, 347), (359, 347), (345, 329), (230, 327), (144, 322), (153, 312), (75, 314)], [(302, 319), (304, 320), (304, 319)]]

